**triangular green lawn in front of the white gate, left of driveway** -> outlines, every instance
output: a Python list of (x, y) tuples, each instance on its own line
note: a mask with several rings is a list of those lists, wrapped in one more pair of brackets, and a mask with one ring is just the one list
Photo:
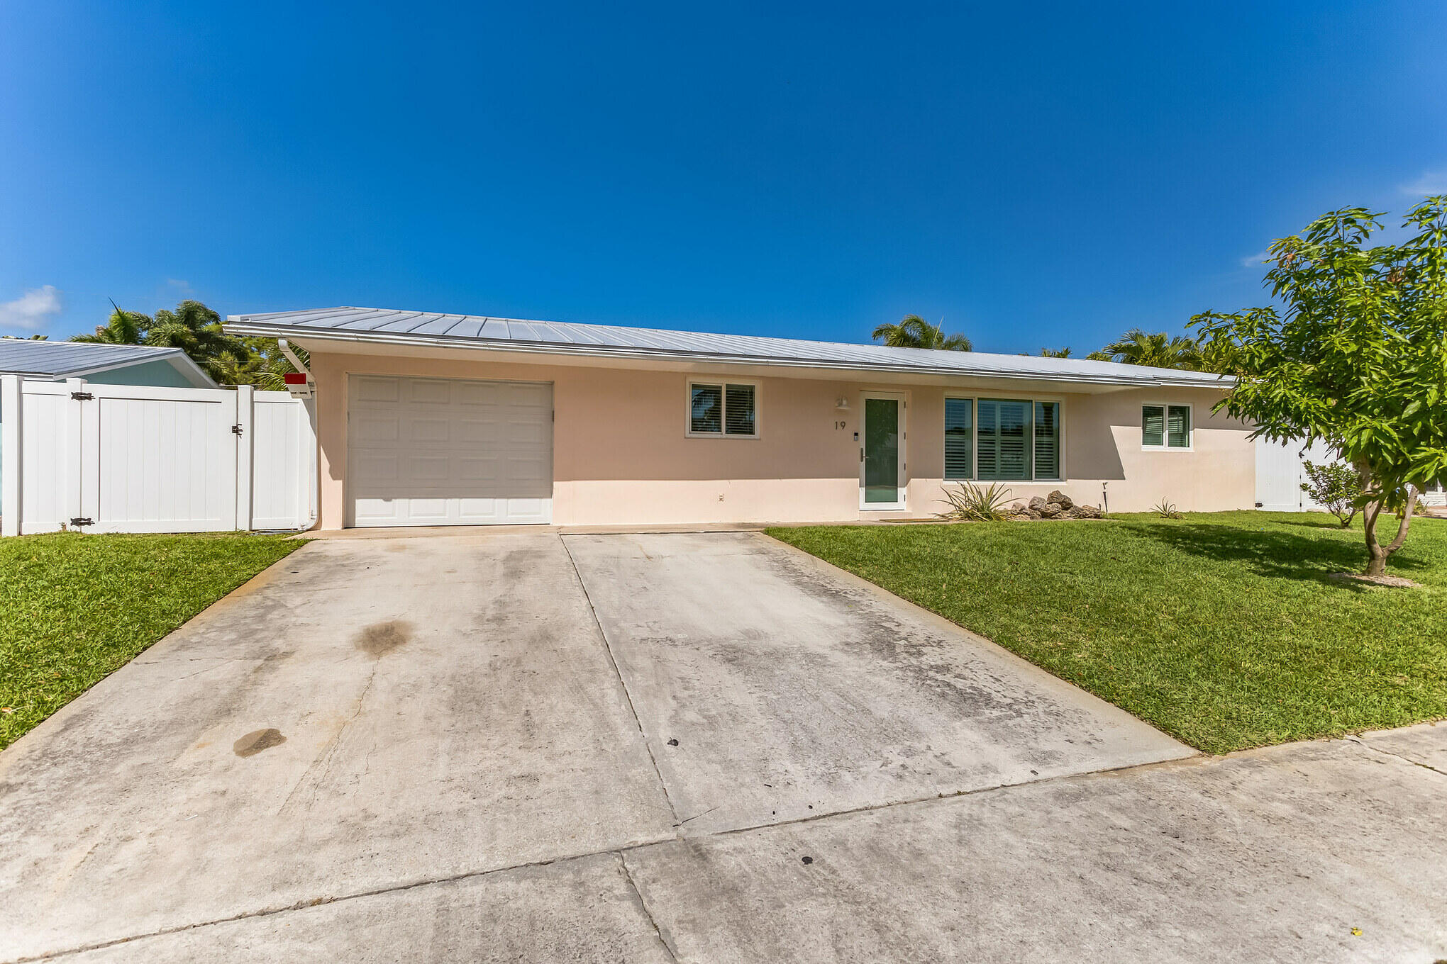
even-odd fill
[(301, 545), (252, 535), (0, 539), (0, 749)]

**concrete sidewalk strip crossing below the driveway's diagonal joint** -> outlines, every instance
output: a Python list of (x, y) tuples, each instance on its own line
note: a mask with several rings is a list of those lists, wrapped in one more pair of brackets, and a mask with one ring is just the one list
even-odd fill
[(1142, 766), (340, 899), (65, 960), (1422, 963), (1447, 726)]

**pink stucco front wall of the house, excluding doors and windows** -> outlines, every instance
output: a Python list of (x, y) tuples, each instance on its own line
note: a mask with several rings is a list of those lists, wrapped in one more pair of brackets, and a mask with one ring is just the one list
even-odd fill
[[(320, 348), (320, 347), (318, 347)], [(708, 373), (407, 358), (314, 350), (321, 528), (344, 525), (346, 376), (411, 374), (454, 379), (551, 382), (553, 520), (559, 525), (692, 522), (828, 522), (877, 513), (860, 510), (860, 392), (907, 399), (907, 516), (939, 509), (943, 474), (943, 399), (939, 386), (867, 380), (751, 379), (758, 389), (760, 438), (689, 438), (687, 382)], [(725, 377), (725, 376), (715, 376)], [(737, 376), (735, 376), (737, 377)], [(990, 387), (951, 395), (1029, 397)], [(849, 399), (849, 412), (835, 400)], [(1039, 395), (1062, 402), (1066, 481), (1004, 483), (1016, 499), (1061, 489), (1110, 509), (1143, 510), (1162, 497), (1182, 510), (1244, 509), (1255, 500), (1255, 458), (1247, 428), (1210, 415), (1217, 392), (1153, 389), (1106, 395)], [(1191, 402), (1194, 451), (1143, 451), (1140, 405)], [(844, 428), (836, 428), (838, 422)], [(901, 513), (890, 513), (899, 516)]]

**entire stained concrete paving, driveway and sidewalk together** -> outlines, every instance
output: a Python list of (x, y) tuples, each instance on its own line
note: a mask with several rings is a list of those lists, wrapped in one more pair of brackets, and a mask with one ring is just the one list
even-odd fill
[(0, 754), (0, 961), (1430, 963), (1444, 759), (1192, 757), (755, 533), (324, 541)]

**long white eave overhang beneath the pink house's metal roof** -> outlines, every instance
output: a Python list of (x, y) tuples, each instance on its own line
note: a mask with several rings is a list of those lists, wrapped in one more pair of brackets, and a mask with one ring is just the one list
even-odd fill
[(239, 335), (265, 338), (305, 338), (307, 341), (337, 341), (349, 344), (418, 345), (451, 348), (460, 351), (489, 351), (527, 356), (556, 356), (566, 358), (634, 360), (634, 361), (682, 361), (713, 366), (751, 366), (768, 369), (806, 369), (831, 371), (878, 371), (890, 374), (932, 376), (941, 379), (981, 379), (1032, 382), (1053, 382), (1059, 384), (1091, 384), (1103, 389), (1184, 387), (1184, 389), (1229, 389), (1234, 379), (1220, 376), (1215, 380), (1171, 379), (1162, 376), (1103, 377), (1069, 374), (1064, 371), (991, 371), (968, 369), (943, 369), (939, 366), (871, 364), (864, 361), (778, 358), (768, 356), (710, 354), (700, 351), (671, 351), (667, 348), (624, 348), (615, 345), (557, 344), (551, 341), (449, 338), (444, 335), (392, 334), (385, 331), (343, 331), (336, 328), (311, 328), (307, 325), (262, 325), (246, 321), (226, 321), (226, 330)]

